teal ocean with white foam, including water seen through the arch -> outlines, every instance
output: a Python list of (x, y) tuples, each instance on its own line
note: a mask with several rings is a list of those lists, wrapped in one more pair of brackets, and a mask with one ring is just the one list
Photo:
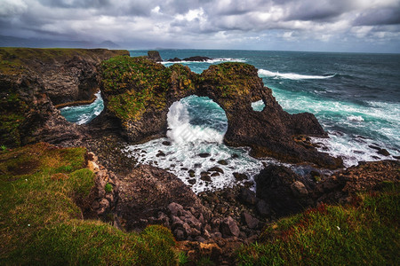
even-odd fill
[[(130, 51), (131, 56), (147, 51)], [(161, 57), (212, 58), (207, 62), (181, 62), (196, 73), (212, 64), (237, 61), (259, 69), (265, 86), (288, 113), (314, 113), (330, 138), (313, 138), (320, 151), (340, 156), (346, 167), (361, 160), (394, 159), (400, 155), (400, 54), (328, 53), (302, 51), (160, 50)], [(163, 63), (171, 66), (172, 63)], [(254, 110), (262, 102), (252, 104)], [(92, 105), (61, 109), (68, 121), (86, 123), (102, 110), (100, 95)], [(168, 113), (166, 138), (143, 145), (127, 146), (140, 163), (151, 164), (176, 174), (194, 192), (222, 189), (243, 173), (251, 181), (273, 159), (257, 160), (248, 149), (223, 144), (227, 130), (224, 111), (210, 98), (190, 96), (174, 103)], [(183, 134), (184, 133), (184, 134)], [(163, 145), (165, 141), (172, 145)], [(376, 147), (391, 156), (377, 153)], [(165, 156), (159, 156), (164, 153)], [(200, 156), (208, 153), (209, 156)], [(158, 155), (158, 156), (157, 156)], [(287, 164), (285, 164), (287, 165)], [(297, 172), (304, 168), (291, 166)], [(210, 168), (219, 176), (204, 180)], [(237, 174), (235, 174), (237, 176)], [(202, 177), (203, 176), (203, 177)]]

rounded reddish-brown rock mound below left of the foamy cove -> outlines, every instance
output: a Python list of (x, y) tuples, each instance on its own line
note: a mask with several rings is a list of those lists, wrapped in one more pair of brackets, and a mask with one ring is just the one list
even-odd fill
[(178, 177), (146, 165), (121, 178), (118, 194), (116, 214), (127, 230), (145, 227), (147, 224), (141, 219), (147, 220), (167, 208), (176, 215), (180, 214), (181, 206), (202, 208), (196, 194)]

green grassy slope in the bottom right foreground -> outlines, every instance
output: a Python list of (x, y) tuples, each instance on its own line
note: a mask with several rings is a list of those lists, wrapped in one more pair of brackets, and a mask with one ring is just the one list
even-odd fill
[(239, 265), (399, 265), (399, 185), (280, 220), (243, 246)]

